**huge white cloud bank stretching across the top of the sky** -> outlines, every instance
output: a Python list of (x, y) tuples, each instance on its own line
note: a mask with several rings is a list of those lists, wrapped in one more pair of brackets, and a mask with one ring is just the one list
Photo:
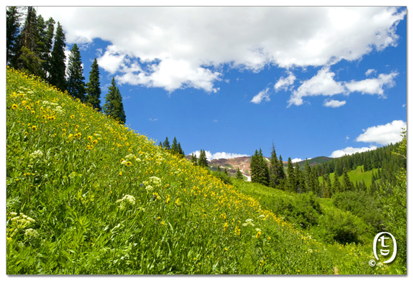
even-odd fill
[(317, 67), (395, 46), (406, 9), (55, 6), (38, 14), (60, 21), (69, 44), (109, 41), (98, 63), (123, 83), (215, 92), (222, 65)]

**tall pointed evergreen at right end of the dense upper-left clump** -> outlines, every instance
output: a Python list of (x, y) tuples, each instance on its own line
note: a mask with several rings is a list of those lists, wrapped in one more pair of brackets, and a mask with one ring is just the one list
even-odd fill
[(56, 35), (54, 36), (52, 58), (50, 61), (49, 83), (54, 85), (61, 91), (66, 90), (65, 46), (65, 33), (63, 33), (62, 25), (58, 21)]

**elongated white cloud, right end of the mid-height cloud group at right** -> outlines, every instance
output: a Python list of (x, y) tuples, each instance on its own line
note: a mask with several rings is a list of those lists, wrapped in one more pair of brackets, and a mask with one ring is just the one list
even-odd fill
[(394, 78), (397, 76), (397, 72), (391, 72), (390, 74), (379, 74), (378, 78), (366, 79), (362, 81), (350, 81), (346, 83), (346, 87), (350, 92), (361, 92), (361, 94), (378, 94), (382, 96), (384, 94), (383, 87), (393, 87)]

